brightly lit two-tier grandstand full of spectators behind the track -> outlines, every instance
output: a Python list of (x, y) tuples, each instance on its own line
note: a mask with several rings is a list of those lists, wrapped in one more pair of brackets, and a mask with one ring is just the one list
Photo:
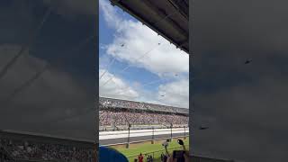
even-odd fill
[(188, 125), (188, 109), (154, 103), (99, 98), (100, 130), (174, 128)]

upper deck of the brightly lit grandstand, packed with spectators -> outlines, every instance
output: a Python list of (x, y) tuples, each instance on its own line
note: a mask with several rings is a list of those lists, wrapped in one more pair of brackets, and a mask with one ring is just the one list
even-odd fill
[(99, 104), (100, 104), (100, 110), (104, 109), (105, 107), (110, 107), (110, 108), (148, 110), (154, 112), (172, 112), (172, 113), (189, 114), (189, 110), (185, 108), (178, 108), (153, 103), (141, 103), (141, 102), (120, 100), (106, 97), (99, 97)]

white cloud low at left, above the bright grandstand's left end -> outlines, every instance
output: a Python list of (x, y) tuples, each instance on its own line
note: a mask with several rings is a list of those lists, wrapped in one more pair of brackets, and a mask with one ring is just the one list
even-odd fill
[[(99, 69), (99, 76), (101, 76), (104, 71), (104, 69)], [(112, 78), (112, 80), (107, 82), (110, 78)], [(100, 96), (126, 100), (134, 100), (139, 96), (130, 85), (108, 71), (102, 79), (99, 80), (99, 94)]]

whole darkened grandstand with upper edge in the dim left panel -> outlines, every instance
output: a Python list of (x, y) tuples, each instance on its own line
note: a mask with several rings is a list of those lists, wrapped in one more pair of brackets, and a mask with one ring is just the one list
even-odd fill
[(94, 161), (94, 142), (0, 131), (0, 161)]

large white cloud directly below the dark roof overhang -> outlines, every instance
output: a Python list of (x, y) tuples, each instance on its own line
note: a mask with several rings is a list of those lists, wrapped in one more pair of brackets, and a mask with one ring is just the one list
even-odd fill
[[(100, 7), (105, 21), (116, 29), (114, 40), (107, 46), (108, 55), (129, 62), (135, 67), (144, 67), (158, 76), (189, 71), (189, 58), (184, 51), (176, 49), (142, 23), (121, 19), (107, 1), (100, 0)], [(158, 43), (161, 45), (157, 47)], [(124, 44), (124, 47), (121, 47), (121, 44)], [(139, 59), (150, 49), (153, 50), (147, 57)]]

